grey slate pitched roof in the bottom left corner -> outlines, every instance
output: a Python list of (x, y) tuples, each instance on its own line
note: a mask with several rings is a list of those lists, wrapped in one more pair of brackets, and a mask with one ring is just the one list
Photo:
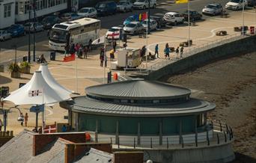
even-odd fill
[(0, 147), (1, 162), (64, 162), (65, 143), (61, 139), (44, 147), (40, 155), (32, 156), (33, 135), (24, 130)]

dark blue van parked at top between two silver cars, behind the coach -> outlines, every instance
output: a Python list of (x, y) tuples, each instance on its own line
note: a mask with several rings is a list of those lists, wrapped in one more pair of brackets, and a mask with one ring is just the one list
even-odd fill
[(115, 1), (100, 1), (95, 6), (98, 15), (110, 15), (117, 12), (117, 4)]

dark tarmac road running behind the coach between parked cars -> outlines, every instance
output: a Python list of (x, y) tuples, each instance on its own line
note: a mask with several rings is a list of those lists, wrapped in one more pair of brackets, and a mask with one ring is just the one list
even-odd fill
[[(219, 2), (223, 6), (228, 2), (228, 0), (195, 0), (190, 2), (191, 10), (198, 10), (201, 13), (202, 8), (210, 2)], [(183, 13), (187, 10), (187, 4), (160, 4), (156, 9), (150, 10), (150, 15), (161, 16), (168, 11), (176, 11)], [(101, 20), (102, 28), (108, 29), (115, 25), (121, 25), (128, 16), (133, 13), (143, 13), (147, 10), (133, 10), (132, 13), (118, 13), (112, 16), (99, 17)], [(227, 13), (233, 12), (227, 10)], [(235, 11), (234, 11), (235, 12)], [(210, 19), (211, 16), (203, 16), (203, 19)], [(31, 51), (33, 50), (33, 34), (31, 34)], [(13, 46), (16, 45), (18, 50), (27, 51), (28, 50), (28, 34), (23, 37), (16, 37), (11, 40), (0, 43), (0, 49), (14, 49)], [(36, 51), (49, 51), (48, 48), (48, 37), (47, 31), (41, 31), (36, 34)], [(33, 53), (31, 52), (31, 55)]]

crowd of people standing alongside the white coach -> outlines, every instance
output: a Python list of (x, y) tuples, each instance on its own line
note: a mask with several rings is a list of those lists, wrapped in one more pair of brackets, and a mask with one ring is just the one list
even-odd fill
[(70, 43), (65, 46), (65, 55), (76, 54), (78, 58), (88, 58), (88, 52), (91, 52), (92, 40), (89, 40), (88, 45), (82, 43)]

